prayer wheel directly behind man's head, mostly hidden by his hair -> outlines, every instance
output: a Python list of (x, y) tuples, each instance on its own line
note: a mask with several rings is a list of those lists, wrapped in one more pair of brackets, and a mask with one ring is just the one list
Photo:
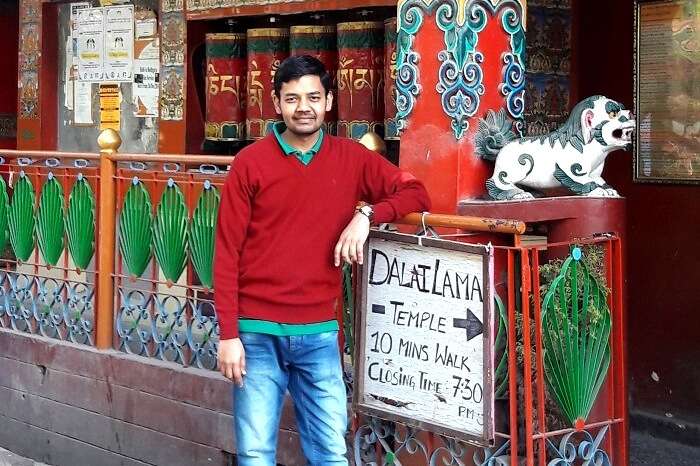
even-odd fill
[[(289, 29), (289, 51), (291, 55), (311, 55), (318, 58), (331, 76), (331, 91), (337, 98), (338, 48), (335, 26), (292, 26)], [(324, 131), (337, 132), (337, 104), (326, 112)]]

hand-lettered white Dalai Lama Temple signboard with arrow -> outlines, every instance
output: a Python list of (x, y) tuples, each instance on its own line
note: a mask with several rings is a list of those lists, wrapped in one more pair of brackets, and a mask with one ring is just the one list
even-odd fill
[(493, 443), (493, 254), (372, 231), (358, 283), (355, 409)]

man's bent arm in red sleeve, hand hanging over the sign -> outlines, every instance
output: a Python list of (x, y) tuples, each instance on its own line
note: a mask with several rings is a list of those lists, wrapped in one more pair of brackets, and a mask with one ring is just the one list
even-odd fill
[[(360, 147), (360, 155), (363, 157), (361, 200), (372, 204), (374, 223), (390, 223), (411, 212), (430, 210), (430, 197), (423, 183), (379, 154)], [(336, 267), (340, 265), (341, 259), (348, 263), (362, 264), (369, 227), (367, 216), (356, 213), (335, 246)]]

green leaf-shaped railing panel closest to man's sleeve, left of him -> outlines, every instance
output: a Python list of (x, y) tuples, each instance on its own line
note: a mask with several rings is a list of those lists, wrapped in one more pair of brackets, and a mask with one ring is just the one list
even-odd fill
[(202, 285), (213, 288), (214, 233), (221, 196), (208, 182), (199, 196), (190, 224), (190, 254)]

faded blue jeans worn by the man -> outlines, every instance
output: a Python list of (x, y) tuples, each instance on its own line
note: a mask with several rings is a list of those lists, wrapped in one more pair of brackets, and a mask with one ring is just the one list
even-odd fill
[(348, 427), (338, 332), (278, 337), (240, 334), (243, 388), (233, 389), (239, 466), (274, 466), (284, 395), (294, 402), (304, 455), (311, 466), (347, 465)]

